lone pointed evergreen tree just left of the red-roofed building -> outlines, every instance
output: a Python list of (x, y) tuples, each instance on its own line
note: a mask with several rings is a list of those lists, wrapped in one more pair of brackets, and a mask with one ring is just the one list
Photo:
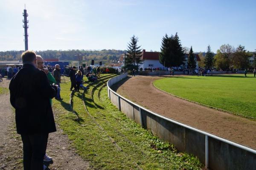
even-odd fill
[[(133, 65), (135, 68), (138, 67), (138, 64), (142, 64), (143, 63), (143, 60), (141, 59), (142, 57), (142, 51), (140, 49), (140, 46), (137, 45), (138, 43), (138, 38), (135, 37), (135, 35), (133, 35), (131, 37), (131, 41), (128, 43), (128, 46), (127, 46), (127, 58), (125, 60), (125, 63), (127, 66), (131, 66)], [(135, 63), (137, 65), (135, 65)], [(130, 68), (131, 69), (131, 68)]]

